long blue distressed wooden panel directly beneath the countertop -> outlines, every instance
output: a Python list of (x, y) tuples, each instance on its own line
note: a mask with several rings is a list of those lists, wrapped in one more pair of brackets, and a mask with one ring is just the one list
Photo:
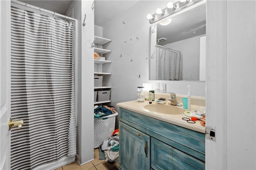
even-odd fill
[(120, 108), (119, 120), (182, 152), (205, 161), (205, 135), (127, 109)]

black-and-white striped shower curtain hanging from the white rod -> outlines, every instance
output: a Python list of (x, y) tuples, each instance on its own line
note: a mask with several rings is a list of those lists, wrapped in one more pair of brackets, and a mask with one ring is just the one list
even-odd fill
[(76, 154), (73, 61), (73, 21), (11, 8), (12, 170)]

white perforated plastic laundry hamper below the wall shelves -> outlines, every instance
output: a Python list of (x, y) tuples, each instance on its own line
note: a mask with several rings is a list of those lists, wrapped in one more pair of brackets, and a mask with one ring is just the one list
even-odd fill
[(94, 118), (94, 149), (111, 137), (115, 130), (116, 115), (118, 115), (117, 112), (101, 119)]

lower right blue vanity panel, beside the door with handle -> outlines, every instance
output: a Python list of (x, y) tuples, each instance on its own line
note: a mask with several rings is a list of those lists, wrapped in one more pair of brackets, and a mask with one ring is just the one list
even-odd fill
[(204, 162), (151, 138), (151, 168), (154, 170), (205, 169)]

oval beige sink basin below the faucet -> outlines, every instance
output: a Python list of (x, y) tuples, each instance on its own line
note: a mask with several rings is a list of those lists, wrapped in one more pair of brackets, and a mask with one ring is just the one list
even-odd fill
[(186, 111), (182, 106), (172, 106), (169, 104), (147, 104), (144, 108), (149, 111), (171, 115), (182, 115), (184, 114), (184, 111)]

